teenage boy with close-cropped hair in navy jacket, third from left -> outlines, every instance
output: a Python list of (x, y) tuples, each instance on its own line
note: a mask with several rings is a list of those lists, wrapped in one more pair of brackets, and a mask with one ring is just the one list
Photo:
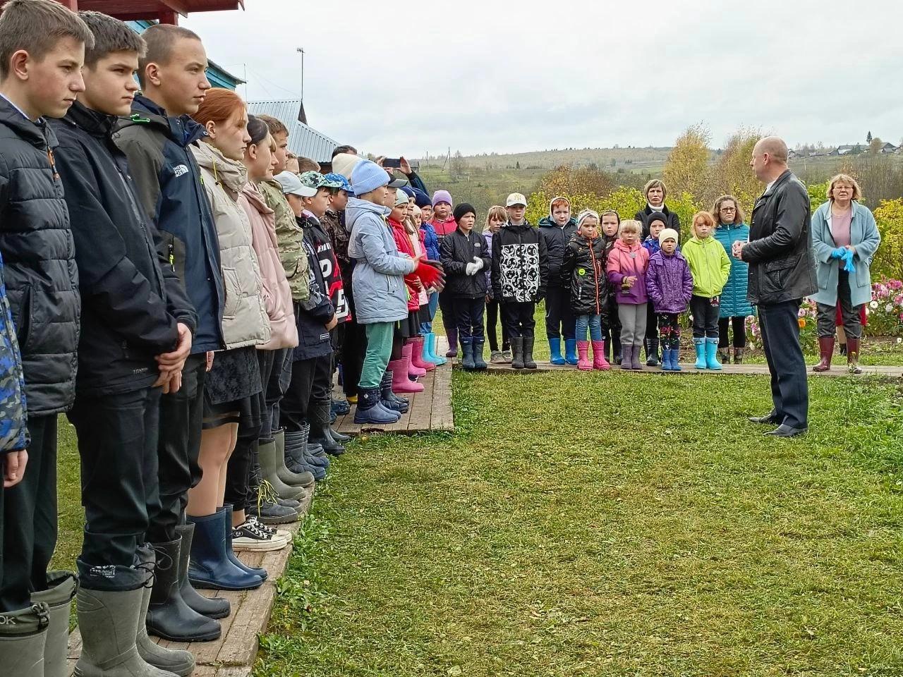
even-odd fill
[[(224, 347), (226, 296), (219, 236), (191, 152), (191, 145), (206, 134), (191, 115), (198, 112), (210, 83), (205, 75), (207, 54), (195, 33), (158, 23), (142, 37), (146, 51), (138, 60), (138, 81), (144, 94), (135, 97), (133, 115), (116, 134), (116, 145), (126, 153), (144, 211), (163, 238), (163, 255), (198, 318), (191, 355), (182, 369), (182, 388), (161, 398), (160, 509), (152, 515), (148, 531), (151, 543), (168, 543), (170, 551), (178, 547), (180, 585), (168, 600), (163, 598), (161, 586), (154, 585), (148, 630), (171, 641), (193, 642), (211, 638), (213, 626), (218, 625), (211, 625), (203, 616), (223, 618), (229, 614), (227, 599), (202, 597), (191, 587), (187, 571), (194, 525), (184, 524), (188, 490), (200, 481), (207, 359), (212, 351)], [(165, 580), (158, 576), (156, 583)]]

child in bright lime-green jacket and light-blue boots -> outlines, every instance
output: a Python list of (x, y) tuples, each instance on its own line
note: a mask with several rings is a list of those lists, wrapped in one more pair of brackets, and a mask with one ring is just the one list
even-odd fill
[(715, 219), (706, 211), (693, 218), (693, 237), (682, 249), (693, 275), (693, 342), (697, 369), (721, 369), (718, 361), (719, 296), (731, 274), (731, 259), (721, 243), (712, 237)]

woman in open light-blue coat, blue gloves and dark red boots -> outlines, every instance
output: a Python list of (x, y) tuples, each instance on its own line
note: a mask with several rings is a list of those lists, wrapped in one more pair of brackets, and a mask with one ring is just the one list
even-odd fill
[(818, 350), (814, 371), (831, 368), (837, 305), (847, 337), (847, 364), (859, 368), (862, 323), (860, 310), (871, 301), (871, 258), (881, 244), (875, 218), (859, 200), (862, 191), (851, 176), (838, 174), (828, 182), (828, 201), (812, 215), (812, 249), (818, 290), (812, 295), (818, 311)]

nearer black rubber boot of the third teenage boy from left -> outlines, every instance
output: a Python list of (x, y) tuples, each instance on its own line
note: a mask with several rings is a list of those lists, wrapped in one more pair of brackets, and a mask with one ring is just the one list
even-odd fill
[[(179, 588), (182, 539), (153, 543), (151, 547), (156, 553), (156, 576), (147, 607), (147, 632), (170, 642), (210, 642), (217, 639), (221, 633), (219, 623), (202, 616), (182, 599)], [(177, 672), (171, 667), (157, 667)]]

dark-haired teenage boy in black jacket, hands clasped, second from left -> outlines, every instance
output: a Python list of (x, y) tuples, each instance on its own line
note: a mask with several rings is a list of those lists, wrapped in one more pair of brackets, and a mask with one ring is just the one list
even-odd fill
[[(131, 111), (144, 42), (106, 14), (79, 16), (95, 39), (85, 57), (86, 88), (67, 116), (51, 125), (60, 139), (57, 169), (70, 210), (82, 304), (79, 375), (69, 414), (79, 439), (86, 522), (77, 559), (84, 649), (76, 670), (99, 672), (134, 651), (137, 632), (120, 628), (144, 625), (154, 561), (144, 535), (160, 501), (160, 395), (179, 390), (196, 323), (172, 268), (165, 266), (163, 274), (154, 226), (126, 156), (113, 143), (116, 116)], [(142, 561), (148, 566), (135, 567)], [(161, 569), (158, 575), (166, 574)], [(188, 652), (138, 642), (127, 663), (143, 673), (145, 660), (180, 674), (194, 666)]]

